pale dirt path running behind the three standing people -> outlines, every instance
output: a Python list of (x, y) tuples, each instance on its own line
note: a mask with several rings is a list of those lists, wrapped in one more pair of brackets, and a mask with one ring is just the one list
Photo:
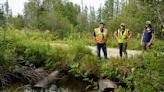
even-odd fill
[[(63, 46), (64, 48), (69, 47), (67, 44), (59, 44), (59, 43), (51, 43), (51, 46)], [(96, 46), (86, 46), (87, 48), (89, 48), (93, 54), (97, 55), (96, 52)], [(108, 57), (119, 57), (119, 49), (118, 48), (107, 48), (107, 53), (108, 53)], [(140, 55), (142, 53), (142, 51), (139, 50), (127, 50), (128, 53), (128, 57), (134, 57), (137, 55)], [(101, 56), (104, 57), (103, 52), (101, 50)]]

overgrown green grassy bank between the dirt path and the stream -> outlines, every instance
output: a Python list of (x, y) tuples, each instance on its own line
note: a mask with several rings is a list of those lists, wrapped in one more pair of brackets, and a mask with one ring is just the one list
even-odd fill
[[(49, 36), (50, 35), (50, 36)], [(131, 40), (133, 41), (133, 40)], [(134, 40), (135, 42), (136, 40)], [(87, 88), (97, 89), (97, 82), (91, 75), (97, 78), (109, 78), (120, 85), (116, 90), (136, 92), (163, 91), (163, 43), (156, 40), (152, 50), (145, 51), (142, 56), (133, 58), (110, 58), (108, 61), (98, 61), (83, 43), (73, 40), (68, 42), (69, 48), (50, 46), (51, 34), (37, 31), (8, 30), (0, 32), (0, 58), (1, 75), (14, 74), (21, 67), (30, 69), (45, 67), (47, 70), (66, 68), (75, 77), (82, 77), (89, 82)], [(138, 41), (139, 42), (139, 41)], [(113, 43), (113, 46), (116, 43)], [(138, 46), (130, 47), (138, 48)], [(10, 57), (10, 58), (8, 58)], [(24, 62), (24, 64), (20, 64)], [(23, 72), (19, 72), (20, 74)], [(10, 77), (7, 77), (10, 78)], [(0, 76), (1, 80), (3, 79)], [(9, 80), (8, 80), (9, 81)], [(8, 83), (8, 82), (7, 82)], [(124, 83), (126, 85), (122, 85)], [(121, 91), (120, 91), (121, 90)]]

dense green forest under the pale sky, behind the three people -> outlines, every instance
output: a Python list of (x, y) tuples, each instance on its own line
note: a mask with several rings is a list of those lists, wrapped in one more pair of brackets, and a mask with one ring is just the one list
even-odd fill
[(29, 0), (23, 15), (12, 16), (6, 4), (5, 9), (0, 9), (0, 19), (3, 28), (49, 30), (60, 39), (91, 35), (101, 20), (111, 32), (124, 22), (134, 34), (141, 33), (145, 21), (150, 20), (159, 34), (164, 25), (163, 5), (163, 0), (106, 0), (95, 11), (94, 7), (80, 7), (67, 0)]

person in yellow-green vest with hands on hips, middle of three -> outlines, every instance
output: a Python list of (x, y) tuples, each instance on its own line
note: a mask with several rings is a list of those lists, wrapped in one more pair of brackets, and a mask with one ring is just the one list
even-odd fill
[(114, 37), (118, 41), (119, 51), (120, 51), (120, 57), (123, 56), (123, 52), (125, 56), (127, 56), (127, 43), (129, 39), (131, 38), (132, 33), (126, 28), (124, 23), (120, 24), (120, 28), (114, 33)]

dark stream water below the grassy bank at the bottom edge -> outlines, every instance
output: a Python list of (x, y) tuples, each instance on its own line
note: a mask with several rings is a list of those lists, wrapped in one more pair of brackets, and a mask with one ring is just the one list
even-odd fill
[(85, 88), (89, 84), (73, 76), (67, 76), (64, 79), (53, 81), (46, 88), (34, 88), (29, 84), (22, 84), (20, 82), (14, 83), (12, 85), (14, 87), (12, 90), (14, 90), (11, 92), (98, 92), (97, 90), (86, 91)]

